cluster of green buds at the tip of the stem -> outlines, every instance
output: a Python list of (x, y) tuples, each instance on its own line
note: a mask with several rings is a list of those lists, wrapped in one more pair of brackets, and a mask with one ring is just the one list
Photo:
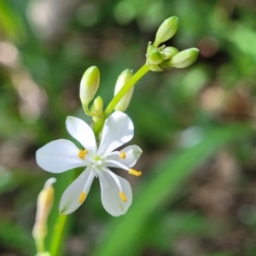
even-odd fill
[(178, 19), (170, 17), (165, 20), (156, 32), (154, 44), (148, 43), (146, 63), (151, 71), (164, 71), (172, 67), (183, 68), (192, 65), (198, 56), (199, 49), (190, 48), (179, 51), (175, 47), (159, 44), (166, 42), (177, 32)]

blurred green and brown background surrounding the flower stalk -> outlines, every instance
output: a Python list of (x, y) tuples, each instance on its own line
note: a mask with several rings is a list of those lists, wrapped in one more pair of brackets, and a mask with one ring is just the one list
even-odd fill
[[(127, 113), (143, 148), (127, 178), (134, 202), (104, 211), (96, 180), (68, 218), (61, 255), (256, 255), (256, 3), (253, 0), (2, 0), (0, 3), (0, 255), (35, 254), (36, 201), (50, 173), (35, 151), (70, 138), (86, 68), (97, 66), (107, 105), (125, 68), (137, 71), (167, 17), (167, 45), (197, 47), (194, 65), (148, 73)], [(70, 138), (71, 139), (71, 138)], [(57, 206), (72, 173), (57, 175)]]

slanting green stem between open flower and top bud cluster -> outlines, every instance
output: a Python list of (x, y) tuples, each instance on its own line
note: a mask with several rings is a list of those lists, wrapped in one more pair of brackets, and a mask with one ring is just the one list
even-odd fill
[(123, 96), (125, 96), (126, 92), (128, 90), (131, 89), (131, 87), (137, 83), (137, 81), (139, 79), (141, 79), (146, 73), (148, 73), (149, 68), (146, 64), (143, 65), (143, 67), (141, 67), (137, 73), (135, 73), (131, 79), (123, 86), (123, 88), (121, 90), (119, 90), (119, 93), (113, 97), (112, 101), (109, 102), (107, 108), (105, 109), (104, 113), (103, 113), (103, 118), (97, 122), (94, 127), (93, 127), (93, 131), (96, 135), (96, 137), (98, 136), (98, 134), (100, 133), (100, 131), (102, 131), (102, 127), (103, 124), (105, 122), (105, 120), (108, 118), (108, 116), (113, 112), (113, 109), (115, 108), (115, 106), (118, 104), (118, 102), (122, 99)]

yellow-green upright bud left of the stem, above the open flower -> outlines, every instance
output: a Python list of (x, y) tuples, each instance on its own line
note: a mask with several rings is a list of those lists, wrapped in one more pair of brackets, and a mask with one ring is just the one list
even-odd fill
[(100, 84), (100, 71), (97, 67), (89, 67), (80, 83), (80, 99), (83, 106), (88, 106), (96, 95)]

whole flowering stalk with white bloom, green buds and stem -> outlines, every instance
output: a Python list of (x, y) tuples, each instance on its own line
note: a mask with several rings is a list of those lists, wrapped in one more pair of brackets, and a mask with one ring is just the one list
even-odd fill
[[(122, 151), (116, 150), (119, 146), (130, 141), (133, 136), (131, 119), (122, 112), (126, 110), (131, 101), (133, 86), (149, 70), (164, 71), (172, 67), (189, 67), (196, 61), (198, 49), (186, 49), (179, 52), (174, 47), (166, 47), (165, 45), (159, 47), (159, 44), (172, 38), (177, 32), (177, 27), (177, 17), (170, 17), (160, 25), (156, 32), (154, 44), (148, 43), (146, 63), (134, 75), (131, 74), (130, 70), (125, 70), (119, 75), (113, 99), (108, 103), (105, 110), (103, 110), (103, 100), (100, 96), (96, 97), (89, 108), (100, 84), (99, 69), (90, 67), (85, 71), (80, 84), (79, 96), (84, 113), (93, 119), (93, 129), (82, 119), (75, 117), (68, 117), (66, 122), (67, 131), (84, 148), (79, 149), (71, 141), (59, 139), (38, 149), (36, 154), (38, 165), (47, 172), (60, 173), (76, 167), (85, 167), (84, 172), (73, 179), (73, 183), (67, 187), (61, 196), (59, 210), (63, 214), (60, 214), (56, 221), (49, 249), (50, 256), (60, 254), (61, 240), (67, 224), (67, 215), (64, 214), (75, 211), (84, 203), (95, 177), (100, 180), (102, 205), (108, 213), (119, 216), (125, 214), (130, 207), (132, 201), (130, 184), (108, 169), (108, 167), (119, 167), (134, 176), (142, 175), (142, 172), (131, 169), (142, 154), (141, 148), (137, 145), (131, 145), (123, 148)], [(115, 110), (114, 113), (113, 110)], [(84, 136), (85, 134), (86, 136)], [(51, 204), (52, 201), (49, 202), (49, 205), (44, 203), (48, 206), (44, 207), (43, 215), (45, 217), (38, 218), (37, 215), (37, 219), (40, 221), (38, 224), (36, 221), (33, 229), (38, 256), (48, 255), (48, 252), (44, 251), (44, 237), (47, 234), (46, 220)]]

